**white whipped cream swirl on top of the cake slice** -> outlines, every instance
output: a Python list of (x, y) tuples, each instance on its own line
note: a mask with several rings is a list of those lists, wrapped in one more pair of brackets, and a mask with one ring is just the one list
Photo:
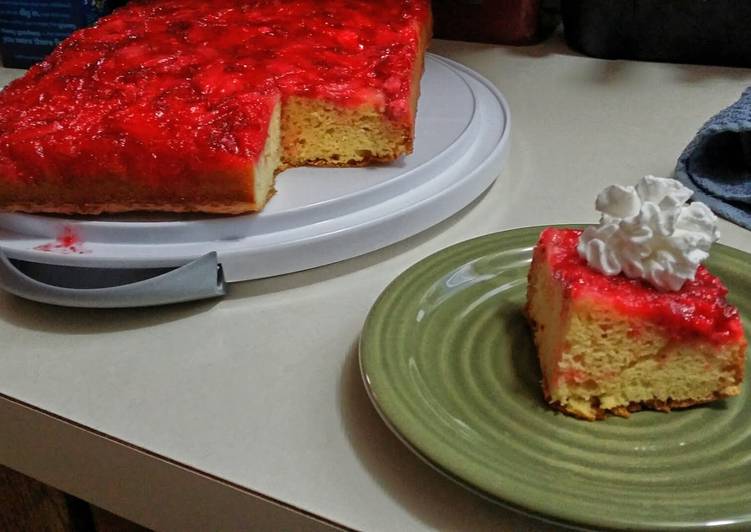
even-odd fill
[(720, 237), (717, 217), (674, 179), (648, 175), (635, 186), (607, 187), (595, 206), (600, 224), (588, 227), (577, 251), (605, 275), (644, 279), (660, 290), (693, 280)]

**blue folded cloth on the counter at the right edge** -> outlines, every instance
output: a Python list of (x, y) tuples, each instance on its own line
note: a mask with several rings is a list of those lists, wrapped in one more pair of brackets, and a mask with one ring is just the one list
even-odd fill
[(709, 119), (678, 159), (675, 177), (715, 214), (751, 229), (751, 87)]

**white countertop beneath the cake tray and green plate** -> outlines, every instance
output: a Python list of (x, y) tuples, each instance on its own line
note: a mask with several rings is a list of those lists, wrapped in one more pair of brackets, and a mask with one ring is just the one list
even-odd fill
[[(119, 469), (102, 477), (106, 445), (355, 529), (548, 528), (445, 479), (390, 433), (360, 380), (365, 316), (389, 281), (434, 251), (504, 229), (592, 222), (604, 186), (669, 175), (702, 123), (751, 84), (751, 70), (595, 60), (558, 37), (527, 48), (435, 41), (432, 51), (486, 76), (510, 104), (510, 159), (487, 193), (405, 242), (233, 285), (221, 301), (87, 311), (0, 293), (0, 393), (105, 438), (104, 447), (62, 449), (40, 437), (27, 460), (32, 450), (12, 446), (28, 441), (1, 436), (5, 425), (0, 462), (158, 528), (185, 527), (181, 513), (194, 509), (125, 489)], [(0, 81), (17, 72), (0, 70)], [(721, 242), (751, 252), (750, 232), (725, 221), (720, 229)], [(32, 410), (14, 419), (33, 436), (37, 418), (23, 412)], [(91, 471), (66, 469), (58, 452), (68, 464), (78, 452)], [(158, 485), (146, 473), (136, 481)], [(196, 529), (228, 522), (202, 515)]]

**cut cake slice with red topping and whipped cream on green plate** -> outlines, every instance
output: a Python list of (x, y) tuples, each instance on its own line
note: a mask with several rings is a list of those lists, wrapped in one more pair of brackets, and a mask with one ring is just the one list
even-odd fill
[(648, 176), (600, 194), (600, 225), (540, 235), (526, 312), (558, 409), (594, 420), (739, 393), (747, 341), (727, 289), (699, 264), (718, 233), (690, 195)]

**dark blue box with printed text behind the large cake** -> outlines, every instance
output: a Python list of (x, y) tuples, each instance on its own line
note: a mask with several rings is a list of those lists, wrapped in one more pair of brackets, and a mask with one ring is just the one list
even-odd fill
[(123, 0), (0, 0), (3, 65), (30, 67), (73, 31), (92, 24), (123, 3)]

